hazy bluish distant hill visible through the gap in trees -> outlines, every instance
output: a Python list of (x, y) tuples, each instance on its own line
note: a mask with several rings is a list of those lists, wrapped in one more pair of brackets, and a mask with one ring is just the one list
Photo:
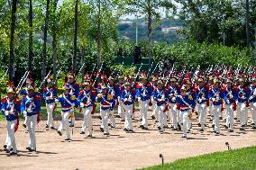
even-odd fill
[[(136, 20), (120, 20), (117, 26), (121, 40), (136, 40)], [(153, 29), (152, 40), (155, 42), (175, 43), (181, 39), (177, 31), (181, 28), (181, 23), (176, 20), (164, 19), (160, 25)], [(147, 40), (147, 22), (138, 20), (138, 40)]]

